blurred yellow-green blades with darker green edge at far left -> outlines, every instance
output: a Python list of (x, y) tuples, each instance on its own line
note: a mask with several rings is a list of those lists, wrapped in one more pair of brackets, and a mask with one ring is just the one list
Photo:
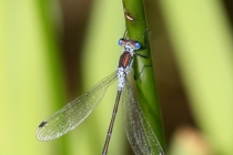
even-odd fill
[[(36, 138), (39, 123), (63, 103), (50, 9), (37, 1), (0, 1), (0, 154), (65, 154), (61, 141)], [(45, 4), (43, 6), (45, 7)], [(57, 107), (55, 107), (57, 106)], [(65, 147), (65, 146), (64, 146)], [(55, 149), (53, 149), (55, 148)]]

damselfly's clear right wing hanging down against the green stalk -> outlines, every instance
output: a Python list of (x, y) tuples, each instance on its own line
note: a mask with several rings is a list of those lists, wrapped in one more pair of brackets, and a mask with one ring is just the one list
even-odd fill
[(128, 80), (125, 80), (122, 102), (124, 128), (134, 154), (164, 155)]

